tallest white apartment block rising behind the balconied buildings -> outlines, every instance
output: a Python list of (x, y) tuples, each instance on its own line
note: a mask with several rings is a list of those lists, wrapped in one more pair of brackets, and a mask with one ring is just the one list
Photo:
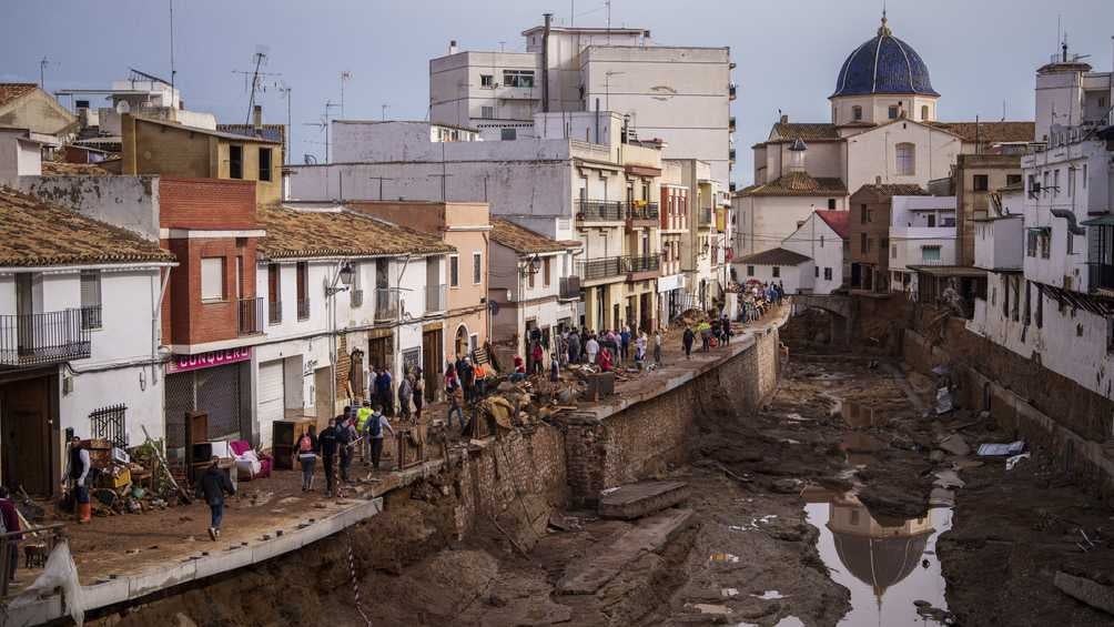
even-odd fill
[(530, 134), (535, 114), (614, 111), (667, 158), (698, 159), (724, 189), (734, 159), (731, 50), (661, 46), (645, 29), (561, 27), (522, 31), (525, 52), (461, 51), (430, 60), (430, 119), (486, 138)]

